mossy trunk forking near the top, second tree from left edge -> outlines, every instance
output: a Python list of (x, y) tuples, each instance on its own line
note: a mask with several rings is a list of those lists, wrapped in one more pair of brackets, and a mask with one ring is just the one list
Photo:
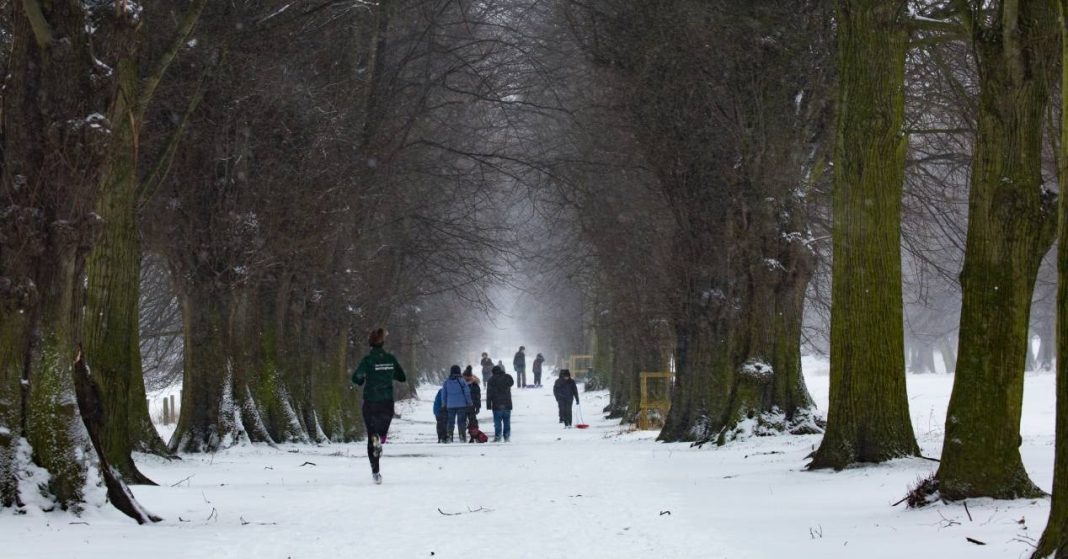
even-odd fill
[(100, 438), (104, 452), (130, 483), (152, 484), (137, 469), (131, 451), (169, 453), (148, 417), (141, 369), (141, 238), (137, 220), (141, 201), (137, 165), (140, 130), (156, 87), (205, 4), (206, 0), (191, 3), (170, 48), (143, 81), (139, 67), (141, 26), (131, 26), (121, 37), (123, 43), (110, 45), (112, 51), (121, 52), (114, 68), (120, 94), (108, 110), (111, 145), (96, 207), (104, 218), (104, 232), (88, 264), (84, 350), (105, 403), (105, 433)]

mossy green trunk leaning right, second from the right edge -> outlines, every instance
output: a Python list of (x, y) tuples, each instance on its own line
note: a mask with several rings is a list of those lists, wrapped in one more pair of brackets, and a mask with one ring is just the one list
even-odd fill
[(1002, 2), (996, 29), (975, 29), (978, 128), (961, 271), (960, 354), (937, 473), (943, 498), (1041, 495), (1020, 457), (1031, 300), (1055, 233), (1042, 187), (1042, 120), (1055, 13)]

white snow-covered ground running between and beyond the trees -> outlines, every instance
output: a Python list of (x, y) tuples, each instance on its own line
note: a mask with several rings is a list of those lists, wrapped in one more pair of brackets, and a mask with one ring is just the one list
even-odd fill
[[(805, 359), (805, 376), (826, 409), (826, 361)], [(909, 376), (925, 455), (939, 455), (952, 381)], [(1053, 388), (1053, 374), (1027, 375), (1022, 451), (1047, 491)], [(107, 506), (80, 517), (3, 511), (0, 557), (1015, 558), (1049, 514), (1046, 499), (892, 507), (937, 464), (808, 472), (818, 436), (663, 445), (600, 419), (606, 393), (583, 397), (591, 429), (564, 430), (550, 387), (515, 390), (512, 442), (486, 445), (438, 445), (429, 401), (398, 404), (380, 486), (363, 445), (139, 456), (160, 486), (135, 493), (162, 523), (141, 527)], [(482, 424), (492, 434), (485, 412)], [(100, 504), (103, 492), (92, 497)]]

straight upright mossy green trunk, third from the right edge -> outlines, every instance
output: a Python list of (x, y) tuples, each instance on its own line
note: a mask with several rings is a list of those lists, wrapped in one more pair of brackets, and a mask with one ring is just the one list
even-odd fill
[(811, 468), (916, 455), (905, 386), (905, 3), (837, 0), (831, 398)]

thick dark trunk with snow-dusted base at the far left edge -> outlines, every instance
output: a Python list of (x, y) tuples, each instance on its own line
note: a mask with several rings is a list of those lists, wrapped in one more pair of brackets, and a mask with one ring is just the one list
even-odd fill
[(33, 462), (49, 470), (56, 502), (77, 510), (87, 439), (70, 366), (84, 257), (99, 228), (91, 211), (109, 142), (101, 113), (114, 95), (94, 52), (121, 50), (131, 26), (126, 14), (104, 10), (92, 33), (87, 5), (73, 0), (9, 9), (0, 110), (0, 504), (18, 504), (12, 478), (32, 449)]

